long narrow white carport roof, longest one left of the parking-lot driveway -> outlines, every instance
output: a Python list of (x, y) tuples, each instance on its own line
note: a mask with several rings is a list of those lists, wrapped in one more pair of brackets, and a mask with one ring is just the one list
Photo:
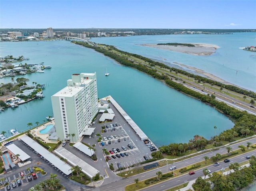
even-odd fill
[(40, 144), (32, 140), (28, 136), (23, 136), (20, 138), (23, 142), (25, 142), (28, 146), (30, 146), (32, 149), (34, 149), (36, 152), (38, 152), (41, 156), (43, 156), (46, 160), (48, 160), (50, 163), (52, 163), (55, 167), (60, 169), (63, 173), (66, 175), (71, 174), (71, 166), (64, 163), (62, 160), (60, 160), (58, 157), (56, 157), (54, 154), (50, 153), (48, 150), (46, 150), (44, 147), (42, 147)]

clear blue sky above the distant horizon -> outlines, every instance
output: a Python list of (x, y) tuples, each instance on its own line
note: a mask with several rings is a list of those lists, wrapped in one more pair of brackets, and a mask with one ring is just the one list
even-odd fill
[(256, 0), (0, 0), (0, 28), (255, 29)]

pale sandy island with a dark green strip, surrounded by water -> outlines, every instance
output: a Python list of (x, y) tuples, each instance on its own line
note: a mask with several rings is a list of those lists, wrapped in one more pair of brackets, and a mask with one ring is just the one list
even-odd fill
[(202, 43), (190, 43), (195, 45), (194, 47), (188, 47), (184, 45), (157, 45), (157, 44), (142, 44), (142, 46), (154, 47), (159, 49), (166, 49), (170, 51), (182, 52), (193, 55), (211, 55), (216, 52), (219, 47), (213, 44)]

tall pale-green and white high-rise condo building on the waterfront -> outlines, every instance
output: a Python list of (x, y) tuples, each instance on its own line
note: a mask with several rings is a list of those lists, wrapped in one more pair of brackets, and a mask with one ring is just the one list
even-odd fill
[(96, 73), (73, 74), (67, 84), (51, 97), (55, 128), (60, 140), (78, 142), (94, 131), (90, 124), (98, 113)]

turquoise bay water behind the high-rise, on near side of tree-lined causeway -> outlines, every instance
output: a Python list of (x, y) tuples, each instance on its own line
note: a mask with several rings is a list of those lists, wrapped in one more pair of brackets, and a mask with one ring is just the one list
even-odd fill
[[(136, 39), (140, 43), (140, 38)], [(136, 47), (142, 52), (139, 47), (144, 47)], [(157, 146), (188, 142), (196, 134), (209, 139), (215, 134), (214, 126), (217, 126), (217, 133), (234, 126), (226, 116), (207, 104), (183, 95), (144, 73), (122, 66), (92, 49), (69, 41), (1, 42), (0, 53), (0, 56), (23, 55), (30, 58), (22, 63), (44, 62), (52, 66), (52, 69), (45, 69), (44, 73), (22, 76), (30, 79), (29, 84), (45, 84), (45, 98), (19, 105), (15, 109), (5, 109), (0, 113), (1, 119), (5, 119), (0, 120), (0, 131), (4, 129), (9, 133), (10, 127), (16, 127), (22, 132), (29, 128), (29, 122), (36, 126), (35, 122), (43, 122), (46, 116), (52, 116), (50, 97), (66, 86), (66, 81), (73, 73), (82, 72), (96, 72), (98, 97), (113, 96)], [(110, 73), (108, 77), (105, 76), (106, 68)], [(0, 79), (0, 83), (8, 82), (11, 82), (11, 77)], [(14, 115), (17, 120), (12, 120)], [(10, 136), (10, 133), (7, 135)]]

